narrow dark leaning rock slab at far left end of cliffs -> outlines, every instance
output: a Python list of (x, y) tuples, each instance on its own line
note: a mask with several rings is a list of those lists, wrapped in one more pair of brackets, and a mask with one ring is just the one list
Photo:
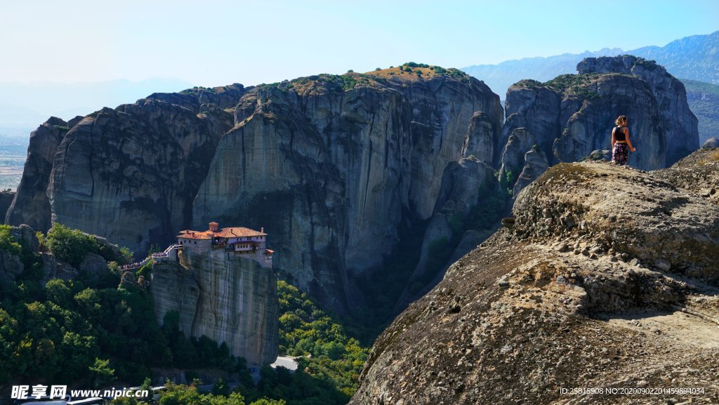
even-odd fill
[(30, 134), (22, 179), (6, 212), (6, 224), (28, 224), (42, 232), (50, 229), (51, 210), (47, 186), (50, 184), (55, 153), (69, 129), (67, 122), (50, 117)]

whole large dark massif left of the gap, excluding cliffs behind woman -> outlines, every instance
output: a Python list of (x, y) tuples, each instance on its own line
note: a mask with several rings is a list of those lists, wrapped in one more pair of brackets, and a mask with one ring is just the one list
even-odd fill
[(484, 83), (441, 68), (153, 94), (42, 143), (49, 166), (26, 170), (8, 218), (138, 256), (213, 220), (265, 227), (282, 247), (275, 267), (342, 306), (349, 278), (397, 245), (398, 224), (432, 216), (449, 163), (493, 159), (502, 121)]

